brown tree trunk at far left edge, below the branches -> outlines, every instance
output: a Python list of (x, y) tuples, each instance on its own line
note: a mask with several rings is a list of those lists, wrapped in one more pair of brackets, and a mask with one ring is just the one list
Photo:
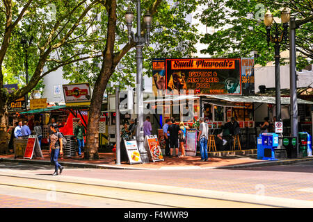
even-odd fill
[(9, 154), (8, 142), (8, 106), (3, 95), (0, 97), (0, 154)]

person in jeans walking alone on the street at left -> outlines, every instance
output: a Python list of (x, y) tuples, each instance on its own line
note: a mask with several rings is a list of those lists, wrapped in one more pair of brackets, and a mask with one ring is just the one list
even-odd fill
[(50, 148), (51, 148), (51, 163), (54, 164), (54, 174), (52, 176), (58, 175), (58, 169), (60, 169), (60, 174), (62, 173), (64, 167), (58, 163), (58, 155), (63, 154), (63, 142), (62, 142), (62, 134), (58, 132), (58, 125), (56, 123), (52, 123), (50, 126), (51, 135), (50, 135)]

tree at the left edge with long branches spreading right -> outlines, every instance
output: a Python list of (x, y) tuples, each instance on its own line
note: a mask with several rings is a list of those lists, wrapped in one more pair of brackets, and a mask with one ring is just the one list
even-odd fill
[[(0, 152), (8, 151), (6, 130), (8, 127), (8, 104), (35, 88), (43, 76), (63, 65), (99, 57), (80, 49), (71, 56), (61, 58), (58, 51), (69, 48), (74, 40), (89, 27), (88, 12), (103, 3), (93, 0), (3, 0), (0, 5)], [(8, 77), (24, 76), (24, 51), (20, 40), (33, 36), (29, 47), (29, 83), (8, 94), (3, 84)], [(85, 55), (85, 56), (84, 56)], [(21, 59), (17, 59), (21, 58)], [(44, 69), (45, 68), (45, 69)], [(9, 72), (8, 72), (9, 70)]]

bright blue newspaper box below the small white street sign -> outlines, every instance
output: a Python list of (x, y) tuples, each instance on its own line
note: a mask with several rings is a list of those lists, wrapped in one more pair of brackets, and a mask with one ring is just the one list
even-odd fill
[(278, 134), (262, 133), (262, 146), (264, 148), (262, 160), (278, 160), (275, 158), (275, 148), (278, 147)]

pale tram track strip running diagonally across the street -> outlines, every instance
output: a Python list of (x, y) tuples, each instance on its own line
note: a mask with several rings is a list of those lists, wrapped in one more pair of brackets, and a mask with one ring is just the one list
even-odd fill
[[(170, 193), (166, 191), (151, 191), (147, 189), (138, 189), (138, 188), (132, 188), (132, 187), (120, 187), (120, 186), (113, 186), (113, 185), (97, 185), (97, 184), (88, 184), (86, 182), (70, 182), (70, 181), (65, 181), (65, 180), (50, 180), (47, 178), (32, 178), (32, 177), (26, 177), (26, 176), (12, 176), (12, 175), (4, 175), (0, 174), (1, 177), (6, 177), (6, 178), (15, 178), (17, 180), (27, 180), (27, 183), (30, 183), (31, 180), (33, 181), (40, 181), (40, 182), (46, 182), (47, 183), (55, 183), (58, 185), (58, 187), (66, 186), (66, 185), (75, 185), (75, 186), (81, 186), (80, 191), (69, 191), (61, 188), (55, 189), (57, 193), (63, 193), (63, 194), (74, 194), (74, 195), (79, 195), (79, 196), (90, 196), (90, 197), (96, 197), (96, 198), (109, 198), (113, 200), (121, 200), (121, 201), (127, 201), (127, 202), (133, 202), (133, 203), (143, 203), (143, 204), (148, 204), (148, 205), (158, 205), (160, 207), (177, 207), (177, 208), (189, 208), (188, 204), (187, 206), (182, 206), (182, 202), (178, 202), (177, 204), (172, 204), (172, 203), (167, 203), (168, 201), (174, 200), (174, 198), (180, 198), (184, 202), (188, 200), (191, 200), (193, 202), (200, 202), (200, 203), (206, 203), (210, 201), (219, 201), (221, 203), (224, 203), (225, 206), (230, 203), (236, 203), (236, 204), (241, 204), (241, 205), (246, 205), (250, 207), (280, 207), (277, 205), (271, 205), (271, 204), (262, 204), (262, 203), (252, 203), (248, 201), (239, 201), (239, 200), (225, 200), (222, 198), (209, 198), (206, 196), (197, 196), (197, 195), (192, 195), (192, 194), (177, 194), (177, 193)], [(10, 184), (10, 182), (3, 182), (3, 180), (0, 180), (0, 185), (3, 186), (10, 186), (10, 187), (20, 187), (20, 188), (25, 188), (25, 189), (38, 189), (42, 191), (51, 191), (51, 189), (45, 188), (45, 187), (40, 187), (40, 184), (37, 185), (21, 185), (21, 184)], [(21, 182), (21, 181), (19, 181)], [(57, 186), (56, 186), (57, 187)], [(115, 192), (115, 194), (125, 194), (126, 197), (124, 198), (118, 198), (113, 196), (113, 194), (90, 194), (92, 193), (91, 190), (99, 189), (100, 191), (104, 191), (104, 188), (112, 189), (112, 192)], [(86, 192), (88, 190), (89, 192)], [(116, 193), (118, 192), (118, 193)], [(151, 198), (147, 200), (134, 200), (134, 196), (129, 196), (127, 198), (127, 194), (129, 193), (134, 193), (134, 195), (140, 194), (143, 199), (145, 199), (145, 196), (150, 196)], [(159, 200), (160, 203), (156, 203), (155, 201), (156, 198), (154, 196), (166, 196), (166, 200)], [(153, 197), (153, 198), (152, 198)], [(196, 206), (197, 207), (197, 206)], [(204, 206), (203, 206), (204, 207)]]

